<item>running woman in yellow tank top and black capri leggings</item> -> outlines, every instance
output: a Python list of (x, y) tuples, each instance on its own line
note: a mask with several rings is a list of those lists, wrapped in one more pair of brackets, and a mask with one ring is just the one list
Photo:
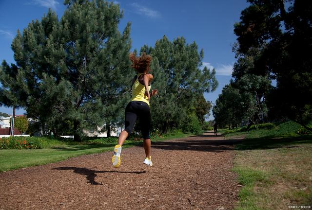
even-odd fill
[(150, 97), (158, 93), (157, 89), (151, 90), (151, 81), (154, 79), (153, 75), (149, 73), (150, 63), (152, 57), (143, 53), (140, 57), (133, 53), (129, 55), (132, 61), (132, 67), (137, 71), (137, 75), (132, 80), (132, 98), (125, 109), (125, 129), (121, 131), (118, 144), (114, 148), (112, 163), (115, 168), (120, 166), (121, 146), (126, 138), (132, 133), (137, 118), (140, 122), (141, 133), (143, 137), (143, 146), (146, 158), (143, 163), (153, 166), (151, 160), (151, 112), (150, 112)]

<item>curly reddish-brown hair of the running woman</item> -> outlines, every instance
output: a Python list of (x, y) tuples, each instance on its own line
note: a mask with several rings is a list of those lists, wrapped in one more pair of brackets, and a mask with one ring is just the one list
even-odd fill
[(130, 53), (129, 58), (132, 61), (132, 67), (138, 73), (148, 73), (150, 71), (151, 55), (147, 55), (144, 52), (141, 56), (137, 57), (134, 53)]

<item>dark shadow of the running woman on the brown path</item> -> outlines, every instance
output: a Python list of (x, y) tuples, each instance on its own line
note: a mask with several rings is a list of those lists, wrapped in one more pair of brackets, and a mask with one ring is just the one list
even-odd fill
[(144, 174), (145, 171), (140, 172), (120, 172), (120, 171), (96, 171), (92, 170), (93, 168), (77, 168), (77, 167), (59, 167), (59, 168), (53, 168), (53, 170), (74, 170), (74, 173), (80, 174), (80, 175), (86, 175), (86, 179), (88, 179), (88, 183), (92, 185), (103, 185), (101, 183), (96, 182), (94, 179), (97, 176), (96, 173), (126, 173), (126, 174)]

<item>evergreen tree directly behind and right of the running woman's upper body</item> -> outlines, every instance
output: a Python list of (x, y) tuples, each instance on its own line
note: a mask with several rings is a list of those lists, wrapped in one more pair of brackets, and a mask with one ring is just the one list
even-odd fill
[(171, 42), (164, 36), (154, 48), (144, 46), (142, 51), (153, 57), (153, 88), (159, 91), (151, 100), (153, 123), (167, 132), (168, 128), (179, 126), (198, 96), (215, 90), (215, 70), (200, 70), (203, 51), (198, 53), (196, 43), (187, 44), (183, 37)]

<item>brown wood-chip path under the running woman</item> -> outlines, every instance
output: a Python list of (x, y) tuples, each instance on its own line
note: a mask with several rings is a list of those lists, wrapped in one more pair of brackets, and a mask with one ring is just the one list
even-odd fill
[(212, 132), (155, 142), (153, 167), (143, 147), (0, 173), (0, 210), (9, 209), (233, 209), (239, 185), (234, 143)]

